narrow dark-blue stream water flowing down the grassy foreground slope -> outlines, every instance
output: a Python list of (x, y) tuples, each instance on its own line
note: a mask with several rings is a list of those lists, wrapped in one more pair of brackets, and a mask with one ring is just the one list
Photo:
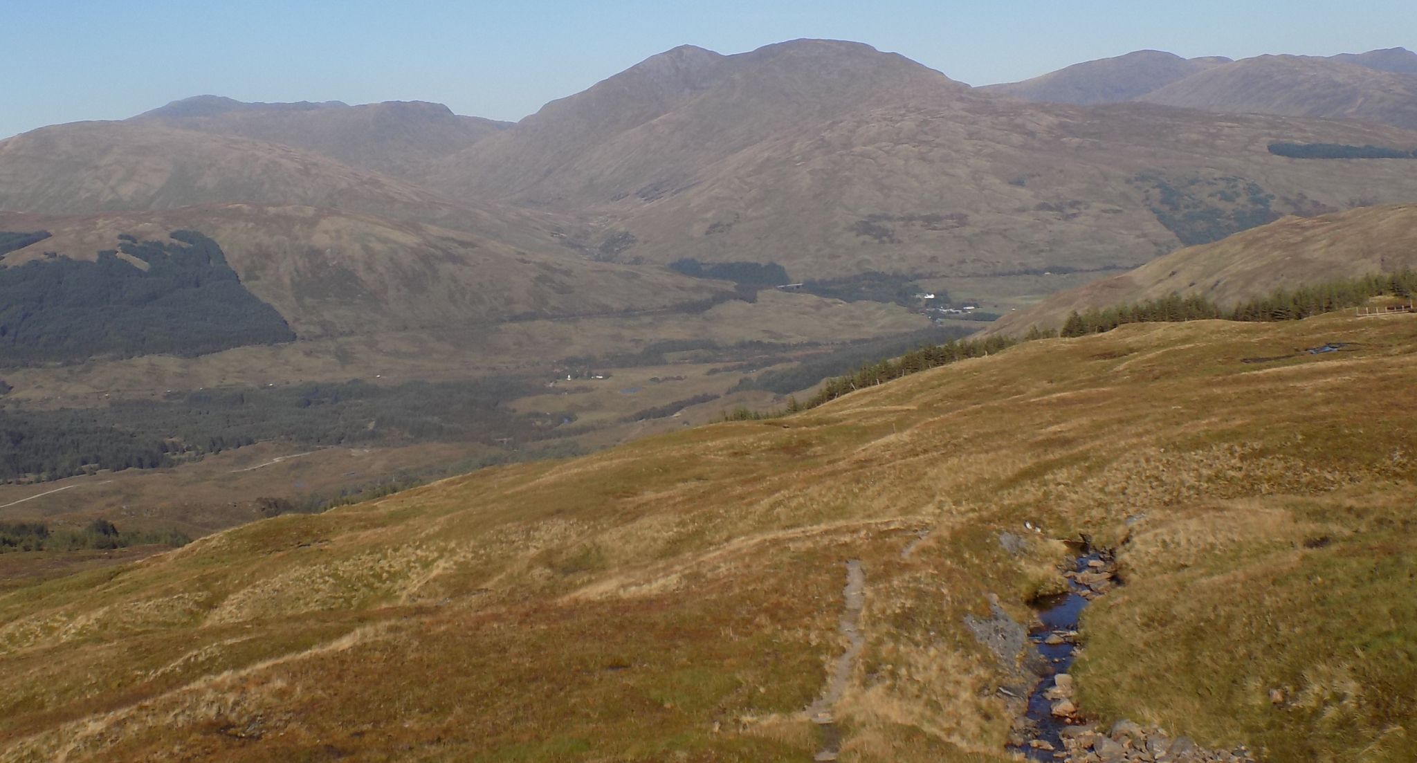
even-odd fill
[[(1091, 549), (1085, 551), (1087, 553), (1083, 553), (1074, 561), (1073, 572), (1100, 572), (1111, 566), (1098, 552)], [(1039, 650), (1039, 654), (1043, 655), (1043, 660), (1047, 664), (1047, 674), (1041, 681), (1039, 681), (1039, 685), (1033, 688), (1033, 692), (1029, 694), (1026, 718), (1033, 729), (1029, 733), (1029, 738), (1030, 740), (1037, 739), (1047, 742), (1051, 746), (1051, 749), (1032, 747), (1027, 745), (1015, 747), (1029, 760), (1057, 760), (1053, 756), (1053, 750), (1063, 749), (1063, 739), (1058, 732), (1078, 722), (1074, 718), (1058, 718), (1053, 715), (1053, 702), (1056, 699), (1050, 699), (1047, 696), (1049, 692), (1057, 685), (1057, 674), (1067, 672), (1068, 668), (1073, 667), (1073, 657), (1077, 650), (1077, 644), (1074, 643), (1077, 621), (1083, 614), (1083, 609), (1088, 604), (1088, 597), (1083, 595), (1083, 592), (1088, 590), (1085, 585), (1068, 578), (1067, 586), (1067, 593), (1049, 596), (1036, 603), (1041, 626), (1029, 631), (1029, 641), (1036, 650)], [(1054, 634), (1061, 636), (1063, 641), (1049, 644), (1049, 637)], [(1057, 641), (1057, 638), (1053, 640)]]

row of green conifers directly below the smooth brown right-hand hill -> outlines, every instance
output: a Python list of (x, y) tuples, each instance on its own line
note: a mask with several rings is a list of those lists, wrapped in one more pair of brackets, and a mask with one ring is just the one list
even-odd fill
[(1280, 321), (1301, 320), (1346, 307), (1359, 307), (1383, 294), (1410, 297), (1417, 287), (1417, 272), (1359, 276), (1298, 289), (1277, 289), (1265, 296), (1241, 302), (1226, 310), (1199, 294), (1178, 293), (1161, 299), (1117, 304), (1104, 309), (1074, 310), (1063, 323), (1064, 337), (1083, 337), (1111, 331), (1127, 323), (1175, 323), (1187, 320)]

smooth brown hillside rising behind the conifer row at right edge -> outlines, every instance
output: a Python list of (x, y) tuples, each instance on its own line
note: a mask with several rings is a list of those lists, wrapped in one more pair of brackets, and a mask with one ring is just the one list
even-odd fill
[(1058, 292), (1010, 313), (990, 333), (1057, 327), (1068, 313), (1165, 297), (1200, 294), (1223, 307), (1294, 289), (1369, 273), (1417, 268), (1417, 205), (1367, 207), (1270, 225), (1156, 258), (1128, 273)]

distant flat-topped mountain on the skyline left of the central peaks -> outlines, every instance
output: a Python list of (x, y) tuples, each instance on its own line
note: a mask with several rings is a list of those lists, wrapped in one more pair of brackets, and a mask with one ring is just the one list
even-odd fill
[(242, 103), (213, 95), (174, 101), (129, 122), (281, 143), (397, 177), (417, 174), (509, 126), (418, 101)]

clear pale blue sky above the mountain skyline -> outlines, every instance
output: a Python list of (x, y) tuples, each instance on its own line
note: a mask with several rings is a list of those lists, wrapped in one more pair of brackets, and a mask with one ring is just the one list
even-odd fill
[(983, 85), (1159, 48), (1414, 47), (1411, 0), (0, 0), (0, 137), (188, 95), (438, 101), (520, 119), (680, 44), (856, 40)]

